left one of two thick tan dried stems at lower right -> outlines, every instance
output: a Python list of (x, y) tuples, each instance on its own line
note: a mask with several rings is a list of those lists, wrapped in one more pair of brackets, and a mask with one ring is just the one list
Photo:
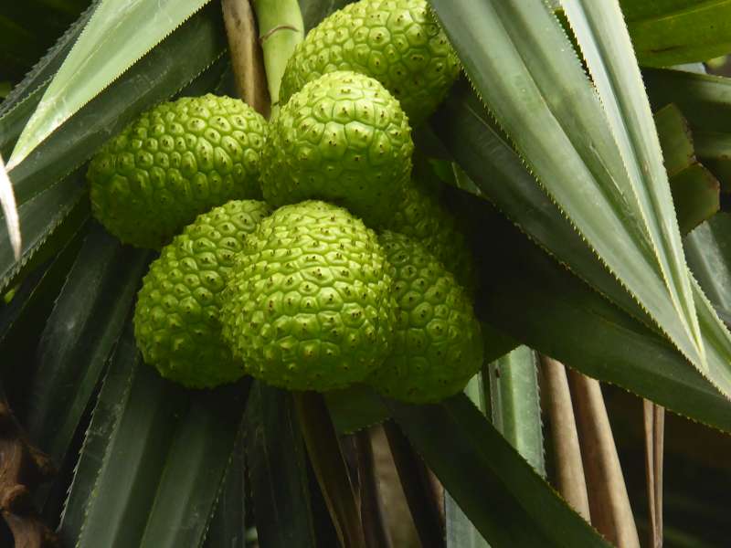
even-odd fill
[(571, 393), (568, 390), (566, 367), (546, 356), (541, 356), (544, 395), (551, 419), (551, 436), (556, 452), (556, 482), (558, 491), (571, 507), (591, 522), (588, 507), (587, 480), (581, 462), (577, 424)]

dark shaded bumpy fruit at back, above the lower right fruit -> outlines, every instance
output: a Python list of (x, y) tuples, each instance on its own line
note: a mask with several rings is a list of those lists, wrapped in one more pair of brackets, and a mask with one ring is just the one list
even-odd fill
[(439, 193), (429, 185), (410, 181), (386, 227), (429, 249), (462, 286), (473, 285), (471, 255), (464, 235), (454, 216), (441, 204)]

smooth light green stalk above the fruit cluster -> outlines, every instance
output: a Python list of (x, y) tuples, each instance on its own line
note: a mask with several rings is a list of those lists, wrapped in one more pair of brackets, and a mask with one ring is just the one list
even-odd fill
[(297, 0), (253, 0), (264, 52), (272, 115), (279, 110), (284, 68), (294, 48), (304, 39), (304, 22)]

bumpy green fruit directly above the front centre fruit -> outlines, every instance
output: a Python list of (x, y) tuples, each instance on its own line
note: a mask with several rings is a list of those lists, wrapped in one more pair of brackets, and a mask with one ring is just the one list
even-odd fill
[(271, 122), (261, 188), (272, 205), (323, 199), (377, 222), (393, 212), (413, 150), (406, 115), (377, 80), (333, 72)]

